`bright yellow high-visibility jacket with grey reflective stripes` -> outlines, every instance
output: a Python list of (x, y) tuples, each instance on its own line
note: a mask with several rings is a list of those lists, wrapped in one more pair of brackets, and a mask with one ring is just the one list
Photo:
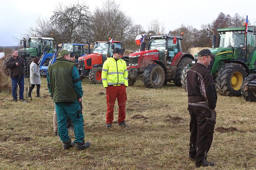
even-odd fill
[(103, 64), (101, 78), (104, 88), (108, 85), (120, 86), (121, 84), (128, 87), (128, 71), (125, 61), (109, 57)]

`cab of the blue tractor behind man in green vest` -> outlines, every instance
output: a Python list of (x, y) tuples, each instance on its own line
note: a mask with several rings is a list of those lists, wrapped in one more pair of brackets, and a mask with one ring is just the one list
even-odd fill
[(85, 44), (73, 44), (73, 43), (63, 43), (62, 48), (68, 51), (72, 51), (76, 54), (76, 63), (78, 63), (78, 58), (85, 54), (84, 46)]

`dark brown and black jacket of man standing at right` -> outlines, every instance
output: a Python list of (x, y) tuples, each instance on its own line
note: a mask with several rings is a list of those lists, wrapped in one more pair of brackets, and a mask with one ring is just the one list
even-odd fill
[(207, 66), (196, 63), (187, 75), (188, 103), (206, 103), (214, 110), (217, 103), (217, 92), (211, 72)]

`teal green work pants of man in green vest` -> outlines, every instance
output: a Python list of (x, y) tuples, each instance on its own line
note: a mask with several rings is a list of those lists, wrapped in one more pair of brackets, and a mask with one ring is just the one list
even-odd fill
[(67, 129), (67, 117), (69, 116), (75, 127), (76, 142), (82, 142), (84, 140), (84, 127), (83, 127), (83, 114), (80, 108), (78, 100), (74, 102), (59, 102), (55, 103), (55, 109), (58, 118), (58, 131), (60, 140), (62, 142), (68, 142), (68, 129)]

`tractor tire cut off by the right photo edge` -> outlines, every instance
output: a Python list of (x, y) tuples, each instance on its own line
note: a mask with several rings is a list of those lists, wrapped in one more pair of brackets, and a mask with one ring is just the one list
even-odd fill
[(245, 77), (242, 83), (241, 94), (243, 98), (248, 102), (256, 102), (256, 92), (248, 91), (249, 83), (255, 79), (256, 74), (250, 74), (248, 77)]

